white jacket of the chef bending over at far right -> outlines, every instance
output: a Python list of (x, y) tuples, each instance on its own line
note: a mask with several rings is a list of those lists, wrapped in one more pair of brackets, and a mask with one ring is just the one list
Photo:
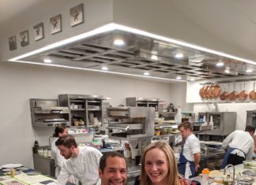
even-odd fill
[[(247, 154), (247, 159), (251, 159), (254, 154), (254, 139), (248, 131), (233, 131), (226, 139), (224, 139), (223, 148), (237, 148), (231, 154), (237, 154), (240, 157), (245, 157), (243, 152)], [(242, 151), (240, 151), (242, 150)]]

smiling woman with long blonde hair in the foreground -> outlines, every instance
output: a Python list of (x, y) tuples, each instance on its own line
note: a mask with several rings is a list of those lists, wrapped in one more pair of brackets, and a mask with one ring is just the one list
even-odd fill
[(180, 185), (175, 154), (166, 142), (153, 142), (141, 156), (141, 185)]

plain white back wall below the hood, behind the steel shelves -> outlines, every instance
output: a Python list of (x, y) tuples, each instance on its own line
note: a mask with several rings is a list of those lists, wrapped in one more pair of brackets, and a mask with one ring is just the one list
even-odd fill
[(69, 93), (104, 95), (111, 97), (111, 105), (125, 104), (126, 97), (173, 102), (168, 83), (6, 62), (0, 63), (0, 86), (0, 166), (16, 162), (32, 167), (34, 140), (47, 145), (53, 133), (53, 128), (32, 128), (29, 98), (58, 98), (58, 94)]

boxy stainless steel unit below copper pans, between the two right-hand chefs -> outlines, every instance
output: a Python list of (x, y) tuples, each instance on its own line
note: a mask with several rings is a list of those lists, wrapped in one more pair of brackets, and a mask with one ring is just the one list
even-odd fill
[[(205, 115), (205, 113), (198, 113), (198, 115)], [(205, 135), (229, 135), (235, 131), (235, 112), (206, 113), (207, 123), (209, 123), (210, 117), (213, 117), (213, 131), (206, 131)]]

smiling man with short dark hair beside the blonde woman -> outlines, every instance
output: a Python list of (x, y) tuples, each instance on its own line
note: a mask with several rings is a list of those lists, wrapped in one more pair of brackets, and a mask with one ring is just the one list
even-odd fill
[(126, 158), (117, 152), (105, 154), (100, 158), (99, 176), (101, 185), (126, 185)]

